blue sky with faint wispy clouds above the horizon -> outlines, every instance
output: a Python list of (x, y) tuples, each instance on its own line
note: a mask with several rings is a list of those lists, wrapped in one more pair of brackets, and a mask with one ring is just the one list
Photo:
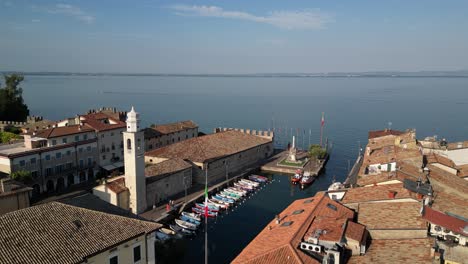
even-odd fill
[(468, 1), (0, 0), (0, 71), (468, 69)]

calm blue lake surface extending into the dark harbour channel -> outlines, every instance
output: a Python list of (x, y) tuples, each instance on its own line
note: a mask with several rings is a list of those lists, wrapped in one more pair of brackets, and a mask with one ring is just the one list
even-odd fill
[[(26, 76), (23, 96), (31, 114), (58, 120), (90, 108), (114, 106), (140, 112), (143, 125), (192, 119), (200, 130), (275, 128), (285, 145), (318, 143), (321, 113), (333, 145), (325, 174), (310, 188), (274, 181), (209, 226), (211, 263), (228, 263), (276, 213), (295, 199), (346, 177), (369, 130), (416, 128), (418, 138), (468, 139), (468, 78), (281, 78), (155, 76)], [(181, 245), (181, 263), (204, 262), (204, 237)]]

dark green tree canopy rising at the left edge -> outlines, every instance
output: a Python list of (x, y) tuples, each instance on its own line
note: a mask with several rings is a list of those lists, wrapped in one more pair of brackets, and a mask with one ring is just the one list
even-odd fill
[(29, 115), (23, 101), (23, 89), (19, 84), (24, 77), (19, 74), (4, 75), (5, 87), (0, 88), (0, 120), (25, 121)]

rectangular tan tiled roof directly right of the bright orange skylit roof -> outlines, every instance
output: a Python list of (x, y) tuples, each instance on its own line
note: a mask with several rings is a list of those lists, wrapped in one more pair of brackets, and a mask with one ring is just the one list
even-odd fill
[(420, 209), (418, 202), (360, 203), (358, 221), (369, 230), (426, 229)]

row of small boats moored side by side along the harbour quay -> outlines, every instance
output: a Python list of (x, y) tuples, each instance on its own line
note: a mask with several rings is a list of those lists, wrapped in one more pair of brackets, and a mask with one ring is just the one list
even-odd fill
[(211, 196), (207, 201), (195, 203), (192, 212), (182, 212), (175, 224), (170, 228), (184, 235), (194, 235), (201, 224), (202, 217), (217, 217), (222, 211), (228, 210), (236, 202), (247, 197), (262, 183), (268, 182), (268, 178), (260, 175), (250, 175), (248, 179), (240, 179), (234, 182), (234, 186), (227, 187)]

